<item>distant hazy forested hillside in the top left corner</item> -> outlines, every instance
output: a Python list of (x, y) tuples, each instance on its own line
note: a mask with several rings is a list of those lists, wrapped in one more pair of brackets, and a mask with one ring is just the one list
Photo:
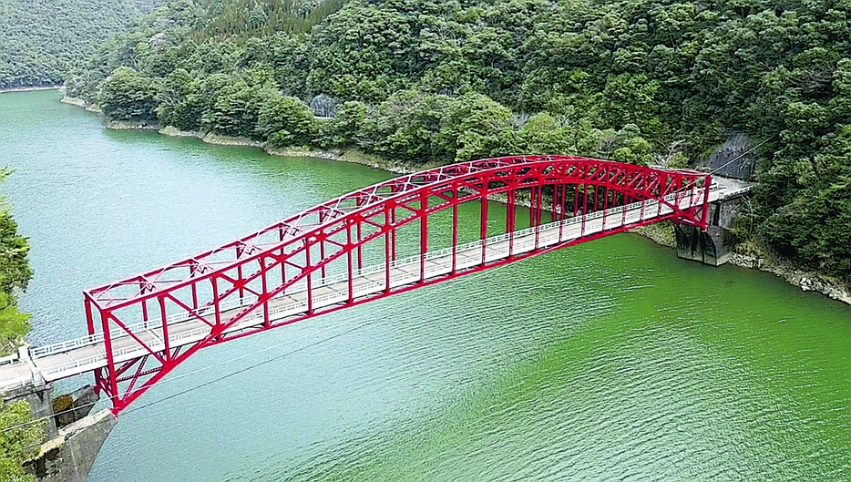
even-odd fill
[(61, 84), (158, 0), (0, 0), (0, 88)]

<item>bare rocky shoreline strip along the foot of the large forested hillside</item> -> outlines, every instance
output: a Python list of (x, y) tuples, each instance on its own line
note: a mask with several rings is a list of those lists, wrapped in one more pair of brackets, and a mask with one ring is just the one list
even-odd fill
[[(100, 112), (97, 106), (88, 104), (85, 100), (75, 97), (63, 97), (62, 102), (74, 105), (80, 108), (85, 108), (90, 112)], [(220, 136), (210, 132), (199, 131), (184, 131), (166, 126), (159, 128), (156, 126), (139, 125), (127, 122), (112, 122), (105, 125), (106, 128), (113, 129), (144, 129), (157, 130), (159, 134), (174, 138), (198, 138), (201, 142), (215, 144), (220, 146), (244, 146), (261, 149), (270, 156), (280, 156), (289, 158), (316, 158), (328, 159), (337, 162), (351, 162), (354, 164), (362, 164), (374, 169), (382, 169), (387, 172), (405, 175), (416, 172), (417, 170), (430, 169), (436, 166), (424, 164), (421, 166), (413, 166), (404, 162), (393, 162), (387, 159), (382, 159), (377, 156), (365, 154), (358, 149), (345, 150), (321, 150), (308, 148), (286, 148), (286, 149), (267, 149), (264, 142), (253, 140), (250, 138), (235, 138), (230, 136)], [(518, 200), (519, 201), (519, 200)], [(497, 200), (499, 202), (499, 200)], [(522, 202), (521, 202), (522, 204)], [(666, 221), (667, 222), (667, 221)], [(639, 234), (660, 246), (672, 248), (676, 250), (676, 241), (673, 241), (673, 231), (669, 231), (670, 223), (658, 223), (650, 226), (644, 226), (629, 230), (628, 232)], [(841, 282), (827, 276), (823, 273), (813, 272), (808, 270), (800, 270), (792, 266), (789, 262), (780, 260), (774, 256), (764, 253), (759, 249), (752, 249), (748, 253), (736, 252), (728, 261), (729, 264), (749, 270), (758, 270), (761, 272), (769, 272), (774, 276), (779, 276), (793, 286), (796, 286), (804, 292), (819, 292), (832, 300), (840, 303), (851, 304), (851, 286), (845, 282)]]

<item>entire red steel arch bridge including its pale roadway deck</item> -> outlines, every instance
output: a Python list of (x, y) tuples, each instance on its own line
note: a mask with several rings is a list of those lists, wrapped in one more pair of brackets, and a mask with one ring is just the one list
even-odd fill
[(705, 230), (720, 191), (698, 171), (571, 156), (386, 180), (87, 290), (88, 335), (30, 348), (21, 376), (93, 372), (118, 414), (201, 348), (660, 220)]

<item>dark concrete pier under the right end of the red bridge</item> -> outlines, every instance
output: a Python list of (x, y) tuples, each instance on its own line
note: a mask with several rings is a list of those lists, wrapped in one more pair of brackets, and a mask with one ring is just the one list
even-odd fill
[(716, 200), (709, 205), (706, 231), (693, 226), (674, 224), (677, 257), (719, 266), (733, 256), (733, 228), (736, 215), (744, 208), (743, 196)]

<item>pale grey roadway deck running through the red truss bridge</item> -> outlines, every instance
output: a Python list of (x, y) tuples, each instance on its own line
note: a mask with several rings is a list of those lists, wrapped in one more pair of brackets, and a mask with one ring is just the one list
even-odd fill
[[(746, 188), (747, 190), (749, 188)], [(716, 187), (710, 192), (710, 201), (723, 199), (738, 194), (742, 189), (733, 186)], [(669, 197), (670, 200), (674, 200)], [(681, 201), (681, 208), (687, 209), (702, 200), (690, 200), (688, 197)], [(625, 207), (617, 207), (606, 211), (577, 216), (568, 220), (543, 224), (537, 228), (515, 231), (511, 236), (501, 234), (484, 241), (485, 257), (482, 259), (483, 241), (473, 241), (456, 247), (457, 272), (464, 272), (483, 262), (504, 260), (511, 255), (518, 255), (536, 249), (547, 248), (559, 243), (573, 241), (583, 236), (613, 230), (624, 225), (631, 225), (641, 220), (651, 220), (672, 213), (672, 208), (658, 201), (648, 200), (637, 202)], [(509, 248), (510, 247), (510, 248)], [(420, 256), (395, 260), (390, 264), (390, 288), (446, 275), (452, 272), (452, 248), (430, 251), (425, 254), (424, 273), (420, 272)], [(384, 263), (364, 267), (353, 272), (352, 292), (354, 300), (383, 292), (386, 273)], [(312, 283), (313, 310), (345, 303), (349, 300), (349, 281), (347, 273), (327, 276)], [(238, 301), (237, 301), (238, 302)], [(273, 298), (269, 303), (270, 321), (280, 323), (287, 318), (302, 315), (307, 312), (307, 290), (304, 282), (293, 286), (283, 295)], [(229, 319), (244, 307), (239, 303), (222, 303), (220, 318)], [(211, 318), (212, 308), (200, 309), (198, 315)], [(182, 319), (181, 319), (182, 318)], [(240, 322), (226, 330), (226, 333), (241, 332), (256, 328), (263, 323), (262, 309), (246, 315)], [(132, 331), (138, 338), (155, 351), (165, 347), (159, 322), (139, 323)], [(171, 348), (191, 344), (203, 339), (210, 333), (210, 325), (196, 317), (183, 314), (177, 318), (169, 318), (169, 345)], [(116, 363), (136, 359), (148, 354), (132, 337), (124, 332), (112, 333), (112, 349)], [(106, 366), (107, 356), (102, 335), (83, 337), (60, 344), (52, 344), (31, 350), (31, 363), (41, 372), (48, 382), (84, 374), (96, 368)], [(0, 364), (0, 390), (10, 386), (28, 382), (33, 376), (32, 367), (24, 361)]]

